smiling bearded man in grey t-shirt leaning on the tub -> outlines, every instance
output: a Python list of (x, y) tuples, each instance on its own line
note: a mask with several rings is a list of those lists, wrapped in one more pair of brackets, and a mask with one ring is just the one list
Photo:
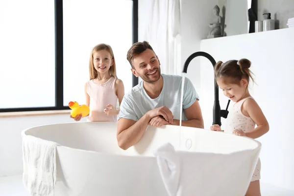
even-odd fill
[[(134, 44), (127, 52), (132, 73), (142, 82), (127, 93), (120, 106), (117, 140), (122, 149), (137, 144), (148, 124), (179, 125), (182, 77), (160, 73), (160, 61), (146, 42)], [(203, 128), (198, 95), (191, 81), (184, 84), (182, 125)]]

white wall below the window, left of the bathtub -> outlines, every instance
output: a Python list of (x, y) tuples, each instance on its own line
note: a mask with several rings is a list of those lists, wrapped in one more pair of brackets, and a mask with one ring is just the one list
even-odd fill
[[(81, 121), (86, 121), (86, 118)], [(67, 114), (0, 118), (0, 177), (23, 172), (22, 130), (45, 124), (69, 122), (73, 122), (73, 119)]]

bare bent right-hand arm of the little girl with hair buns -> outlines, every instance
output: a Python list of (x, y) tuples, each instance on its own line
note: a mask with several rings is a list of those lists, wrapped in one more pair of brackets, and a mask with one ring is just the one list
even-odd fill
[(269, 129), (269, 123), (260, 109), (259, 105), (252, 98), (248, 98), (243, 103), (244, 111), (241, 111), (245, 116), (249, 116), (257, 125), (253, 130), (247, 131), (245, 134), (249, 138), (259, 138), (260, 136), (266, 134)]

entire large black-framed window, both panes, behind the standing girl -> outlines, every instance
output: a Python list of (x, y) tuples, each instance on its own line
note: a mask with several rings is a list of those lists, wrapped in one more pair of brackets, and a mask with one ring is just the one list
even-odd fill
[(0, 28), (0, 112), (84, 103), (99, 43), (112, 47), (125, 92), (138, 83), (126, 60), (138, 40), (138, 0), (1, 0)]

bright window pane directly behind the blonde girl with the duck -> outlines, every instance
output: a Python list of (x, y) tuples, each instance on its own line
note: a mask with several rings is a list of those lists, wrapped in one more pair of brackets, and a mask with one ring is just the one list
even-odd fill
[(132, 0), (63, 0), (64, 105), (85, 103), (91, 50), (100, 43), (111, 46), (118, 78), (125, 92), (132, 88), (131, 66), (126, 60), (133, 44)]

